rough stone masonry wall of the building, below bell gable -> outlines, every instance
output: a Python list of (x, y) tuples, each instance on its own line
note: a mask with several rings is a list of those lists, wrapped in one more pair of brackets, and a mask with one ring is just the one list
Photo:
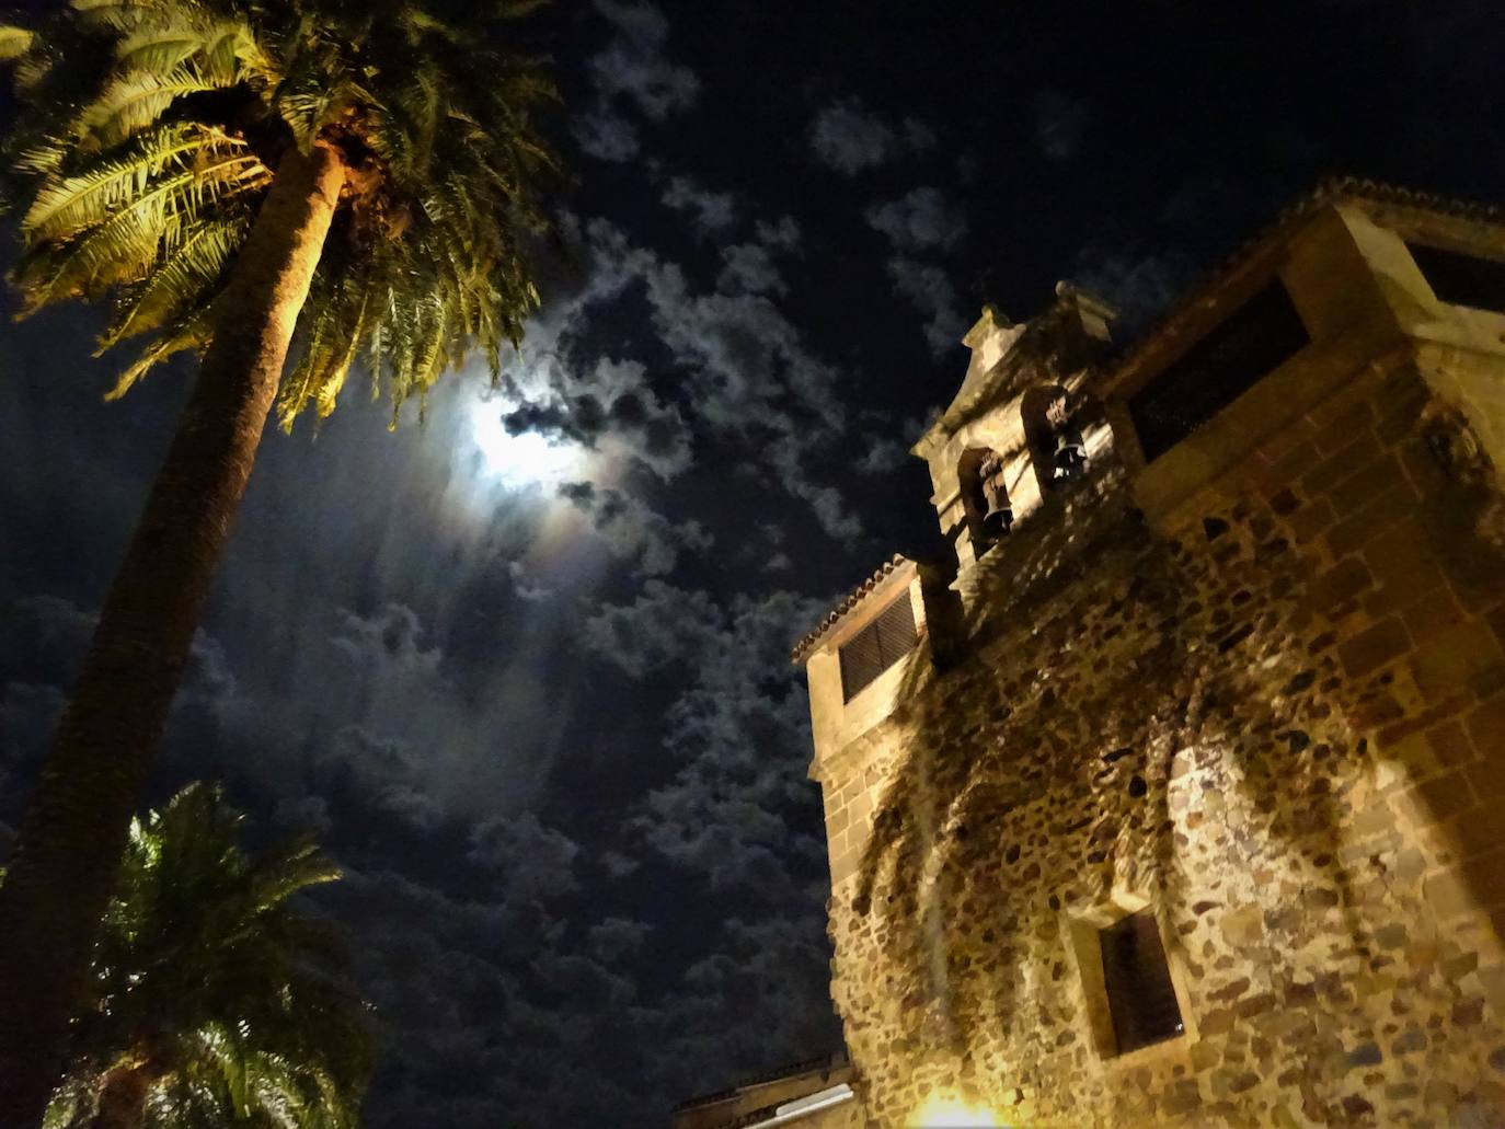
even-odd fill
[[(1505, 1126), (1502, 373), (1392, 352), (975, 566), (965, 652), (817, 763), (873, 1124)], [(1187, 1033), (1115, 1055), (1075, 938), (1142, 903)]]

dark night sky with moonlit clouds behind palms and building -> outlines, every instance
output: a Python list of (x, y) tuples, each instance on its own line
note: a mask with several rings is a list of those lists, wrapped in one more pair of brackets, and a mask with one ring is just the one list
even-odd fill
[[(1127, 340), (1321, 176), (1505, 202), (1497, 0), (543, 20), (570, 184), (521, 357), (394, 434), (358, 390), (269, 426), (149, 796), (224, 780), (348, 867), (376, 1127), (658, 1126), (840, 1046), (787, 653), (935, 551), (908, 446), (984, 301), (1072, 278)], [(96, 325), (0, 336), (0, 835), (191, 375), (104, 403)]]

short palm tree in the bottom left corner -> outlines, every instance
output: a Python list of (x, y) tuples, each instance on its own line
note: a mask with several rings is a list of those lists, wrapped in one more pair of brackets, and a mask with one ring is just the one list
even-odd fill
[(132, 820), (47, 1129), (355, 1124), (366, 1007), (289, 905), (340, 872), (310, 838), (247, 855), (244, 822), (203, 784)]

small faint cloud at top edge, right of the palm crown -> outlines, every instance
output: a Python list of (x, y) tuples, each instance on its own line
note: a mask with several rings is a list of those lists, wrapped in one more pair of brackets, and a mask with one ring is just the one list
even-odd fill
[(695, 104), (700, 80), (664, 54), (668, 20), (656, 6), (596, 0), (594, 8), (613, 39), (585, 63), (596, 101), (578, 119), (575, 138), (590, 157), (626, 161), (640, 149), (638, 126), (628, 111), (664, 122)]

